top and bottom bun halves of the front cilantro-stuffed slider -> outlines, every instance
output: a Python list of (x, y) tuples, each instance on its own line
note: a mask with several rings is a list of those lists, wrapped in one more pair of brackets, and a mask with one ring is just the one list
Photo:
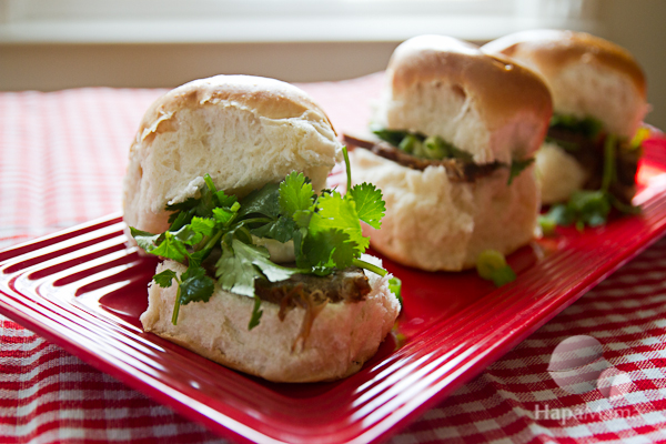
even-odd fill
[[(206, 173), (218, 190), (239, 198), (281, 182), (292, 171), (303, 172), (321, 190), (341, 150), (324, 112), (295, 87), (244, 75), (196, 80), (148, 110), (130, 151), (124, 220), (139, 230), (163, 232), (169, 228), (164, 206), (199, 196)], [(294, 260), (291, 241), (255, 243), (266, 246), (273, 261)], [(381, 265), (371, 256), (363, 260)], [(179, 276), (186, 270), (168, 260), (157, 273), (167, 269)], [(178, 285), (153, 283), (141, 323), (147, 332), (269, 381), (336, 380), (357, 372), (391, 331), (400, 303), (389, 291), (390, 278), (367, 273), (369, 294), (333, 302), (313, 276), (311, 293), (299, 300), (309, 301), (309, 309), (291, 306), (289, 294), (279, 302), (262, 301), (263, 315), (252, 330), (254, 299), (224, 291), (216, 282), (208, 302), (180, 305), (173, 325)]]

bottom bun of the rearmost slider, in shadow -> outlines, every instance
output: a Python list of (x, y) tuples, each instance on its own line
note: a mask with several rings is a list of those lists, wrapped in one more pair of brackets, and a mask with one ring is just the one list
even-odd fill
[(546, 204), (567, 201), (588, 179), (578, 161), (555, 143), (544, 143), (535, 163), (542, 202)]

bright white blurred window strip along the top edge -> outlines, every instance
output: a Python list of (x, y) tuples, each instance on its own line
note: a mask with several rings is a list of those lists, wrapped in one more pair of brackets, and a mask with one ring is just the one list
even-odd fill
[(528, 28), (594, 32), (599, 0), (0, 0), (0, 42), (490, 40)]

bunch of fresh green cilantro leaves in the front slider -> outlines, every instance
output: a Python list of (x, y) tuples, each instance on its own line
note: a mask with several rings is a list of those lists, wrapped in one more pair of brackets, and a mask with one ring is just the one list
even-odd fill
[[(346, 149), (343, 153), (347, 165), (345, 195), (334, 190), (317, 195), (307, 178), (292, 172), (281, 183), (269, 183), (239, 201), (219, 191), (206, 174), (199, 198), (167, 205), (172, 212), (169, 230), (153, 234), (130, 228), (148, 253), (186, 265), (180, 276), (172, 270), (153, 276), (162, 287), (173, 282), (178, 285), (174, 325), (181, 305), (209, 301), (215, 280), (223, 290), (254, 299), (248, 325), (252, 330), (263, 313), (254, 292), (258, 279), (280, 282), (294, 274), (327, 275), (351, 265), (386, 274), (384, 269), (361, 260), (370, 241), (363, 236), (360, 221), (381, 226), (385, 213), (382, 192), (370, 183), (352, 186)], [(269, 251), (254, 244), (253, 235), (282, 243), (293, 241), (296, 266), (271, 261)], [(209, 256), (215, 249), (220, 255), (212, 264)], [(215, 280), (206, 268), (214, 270)]]

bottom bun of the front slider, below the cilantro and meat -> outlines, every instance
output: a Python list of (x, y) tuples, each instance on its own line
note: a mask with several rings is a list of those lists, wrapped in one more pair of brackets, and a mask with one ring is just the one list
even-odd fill
[[(365, 261), (379, 260), (364, 256)], [(181, 274), (185, 266), (165, 261)], [(367, 273), (371, 292), (361, 302), (329, 303), (316, 315), (305, 341), (297, 340), (305, 310), (291, 309), (283, 321), (280, 306), (263, 301), (258, 326), (248, 330), (254, 300), (226, 292), (215, 284), (209, 302), (181, 305), (178, 325), (171, 323), (176, 286), (149, 287), (148, 310), (141, 315), (152, 332), (204, 357), (273, 382), (332, 381), (356, 373), (377, 351), (400, 313), (389, 291), (391, 275)]]

